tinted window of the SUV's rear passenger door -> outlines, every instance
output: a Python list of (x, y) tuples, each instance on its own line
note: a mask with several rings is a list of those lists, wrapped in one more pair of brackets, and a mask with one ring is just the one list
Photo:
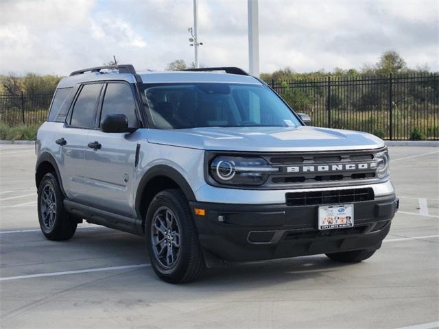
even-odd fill
[(73, 127), (95, 127), (96, 105), (102, 84), (84, 84), (73, 106)]

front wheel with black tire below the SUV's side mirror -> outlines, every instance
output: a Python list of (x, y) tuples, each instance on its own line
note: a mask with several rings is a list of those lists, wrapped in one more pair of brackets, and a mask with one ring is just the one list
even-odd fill
[[(167, 230), (169, 226), (166, 227), (168, 215), (171, 230)], [(161, 225), (163, 219), (165, 225)], [(163, 234), (163, 230), (167, 235)], [(171, 239), (175, 240), (171, 241)], [(182, 191), (178, 189), (161, 191), (152, 199), (145, 220), (145, 240), (152, 269), (162, 280), (169, 283), (183, 283), (198, 280), (203, 275), (206, 263), (198, 242), (198, 232), (189, 210), (189, 203)], [(165, 241), (164, 247), (163, 241)], [(179, 247), (176, 247), (177, 244)], [(169, 257), (164, 256), (169, 250), (174, 256), (170, 254)], [(169, 262), (169, 259), (174, 262)]]

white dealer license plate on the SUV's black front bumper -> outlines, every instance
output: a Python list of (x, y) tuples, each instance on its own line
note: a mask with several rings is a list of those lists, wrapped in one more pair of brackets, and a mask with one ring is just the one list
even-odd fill
[(354, 205), (344, 204), (318, 207), (318, 229), (352, 228), (354, 226)]

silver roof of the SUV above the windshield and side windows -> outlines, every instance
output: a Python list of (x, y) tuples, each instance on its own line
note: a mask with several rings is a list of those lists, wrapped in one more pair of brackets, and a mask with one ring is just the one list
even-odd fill
[[(219, 72), (191, 72), (191, 71), (143, 71), (137, 73), (145, 84), (162, 83), (229, 83), (229, 84), (261, 84), (250, 75), (237, 75)], [(105, 80), (119, 80), (136, 83), (136, 78), (131, 73), (119, 71), (88, 72), (78, 75), (63, 77), (58, 88), (69, 88), (82, 82), (99, 82)]]

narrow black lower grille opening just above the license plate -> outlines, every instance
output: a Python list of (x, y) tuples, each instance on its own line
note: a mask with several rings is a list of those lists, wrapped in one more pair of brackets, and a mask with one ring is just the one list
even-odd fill
[(287, 206), (312, 206), (318, 204), (346, 204), (374, 199), (373, 188), (347, 190), (307, 191), (285, 193)]

